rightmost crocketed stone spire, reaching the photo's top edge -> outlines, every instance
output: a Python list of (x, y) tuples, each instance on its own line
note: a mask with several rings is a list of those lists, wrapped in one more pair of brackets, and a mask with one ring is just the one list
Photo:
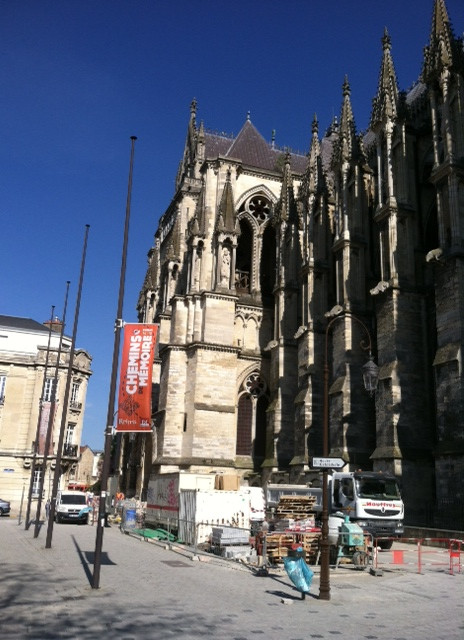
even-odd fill
[(424, 50), (424, 81), (436, 80), (443, 69), (449, 69), (459, 61), (462, 62), (463, 58), (462, 48), (459, 48), (453, 34), (445, 1), (435, 0), (430, 42)]

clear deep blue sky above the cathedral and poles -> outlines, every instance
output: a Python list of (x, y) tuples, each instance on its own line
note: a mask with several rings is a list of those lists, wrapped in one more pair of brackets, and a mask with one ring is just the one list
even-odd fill
[[(447, 0), (457, 34), (464, 2)], [(306, 152), (339, 115), (345, 74), (369, 122), (384, 27), (401, 89), (421, 70), (433, 0), (0, 0), (0, 313), (61, 315), (72, 334), (90, 225), (77, 347), (93, 356), (83, 444), (103, 447), (130, 136), (136, 135), (124, 320), (173, 195), (189, 105), (238, 133)]]

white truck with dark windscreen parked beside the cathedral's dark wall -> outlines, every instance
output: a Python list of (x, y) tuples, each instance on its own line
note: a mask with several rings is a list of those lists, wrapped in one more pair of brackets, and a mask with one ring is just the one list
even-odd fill
[[(368, 531), (378, 546), (389, 549), (393, 538), (403, 534), (404, 504), (393, 475), (375, 471), (333, 472), (329, 480), (329, 514), (342, 513)], [(315, 511), (322, 511), (322, 489), (305, 485), (268, 485), (267, 508), (276, 506), (281, 495), (315, 496)]]

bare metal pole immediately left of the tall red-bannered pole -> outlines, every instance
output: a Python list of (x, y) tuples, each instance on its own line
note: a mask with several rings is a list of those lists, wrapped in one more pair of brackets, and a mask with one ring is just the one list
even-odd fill
[(74, 311), (74, 328), (73, 328), (73, 335), (71, 340), (71, 349), (69, 351), (68, 376), (66, 378), (66, 389), (64, 392), (63, 411), (61, 413), (60, 434), (58, 436), (58, 447), (56, 450), (55, 473), (53, 475), (52, 494), (50, 496), (50, 513), (49, 513), (48, 524), (47, 524), (47, 539), (45, 542), (46, 549), (50, 549), (50, 547), (52, 546), (53, 520), (55, 518), (56, 495), (58, 493), (58, 485), (59, 485), (60, 476), (61, 476), (61, 457), (63, 453), (64, 432), (65, 432), (66, 421), (68, 417), (69, 391), (71, 388), (71, 379), (72, 379), (72, 372), (73, 372), (73, 365), (74, 365), (74, 351), (76, 348), (77, 324), (79, 320), (79, 308), (81, 304), (82, 283), (84, 280), (84, 267), (85, 267), (85, 257), (87, 253), (87, 239), (89, 236), (89, 228), (90, 226), (86, 224), (85, 235), (84, 235), (84, 248), (82, 250), (79, 287), (78, 287), (77, 298), (76, 298), (76, 309)]

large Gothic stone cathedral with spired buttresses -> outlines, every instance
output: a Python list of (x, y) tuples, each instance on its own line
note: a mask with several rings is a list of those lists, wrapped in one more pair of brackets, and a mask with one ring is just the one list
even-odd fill
[(159, 350), (153, 434), (122, 442), (126, 490), (179, 470), (307, 482), (327, 406), (328, 454), (394, 473), (406, 523), (464, 501), (464, 50), (431, 4), (407, 91), (385, 30), (366, 132), (347, 79), (307, 155), (249, 117), (209, 131), (192, 102), (138, 299)]

